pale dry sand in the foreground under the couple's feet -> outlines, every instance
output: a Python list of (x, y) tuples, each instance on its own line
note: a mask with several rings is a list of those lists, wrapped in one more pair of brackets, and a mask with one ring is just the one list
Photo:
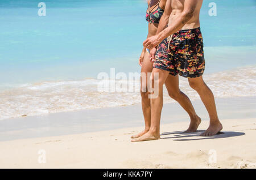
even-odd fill
[(199, 136), (208, 123), (186, 134), (188, 122), (162, 125), (160, 140), (138, 143), (130, 136), (142, 127), (0, 142), (0, 168), (256, 167), (256, 118), (225, 119), (224, 134)]

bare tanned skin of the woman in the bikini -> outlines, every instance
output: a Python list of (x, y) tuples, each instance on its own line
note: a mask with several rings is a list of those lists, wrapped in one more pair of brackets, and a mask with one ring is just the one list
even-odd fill
[[(159, 0), (153, 0), (151, 1), (150, 7), (154, 7)], [(150, 0), (148, 1), (150, 3)], [(161, 0), (159, 6), (164, 9), (166, 6), (166, 0)], [(157, 7), (156, 7), (157, 8)], [(154, 11), (156, 8), (151, 9), (150, 11)], [(166, 13), (164, 10), (164, 14), (162, 18), (168, 20), (170, 14)], [(161, 18), (161, 20), (162, 20)], [(148, 23), (148, 35), (147, 37), (152, 37), (156, 35), (158, 31), (158, 25), (155, 23)], [(139, 65), (142, 66), (141, 72), (144, 72), (147, 76), (147, 72), (152, 72), (153, 70), (153, 63), (150, 61), (150, 56), (146, 52), (146, 47), (143, 48), (141, 57), (139, 58)], [(147, 78), (147, 77), (146, 77)], [(141, 81), (142, 82), (142, 81)], [(179, 104), (185, 109), (185, 111), (189, 114), (189, 117), (191, 119), (191, 125), (189, 125), (187, 131), (185, 132), (194, 132), (197, 130), (197, 127), (199, 126), (201, 122), (201, 118), (196, 114), (195, 109), (193, 108), (193, 105), (189, 98), (180, 91), (179, 88), (179, 76), (172, 76), (168, 75), (166, 82), (165, 82), (167, 91), (170, 95), (170, 97), (174, 98)], [(145, 84), (141, 84), (141, 88), (144, 90), (147, 90), (147, 82)], [(150, 106), (150, 98), (148, 98), (148, 92), (142, 91), (141, 89), (141, 97), (142, 97), (142, 111), (144, 115), (144, 123), (145, 128), (142, 132), (139, 132), (136, 135), (131, 136), (131, 138), (139, 138), (140, 136), (146, 134), (150, 130), (151, 126), (151, 106)]]

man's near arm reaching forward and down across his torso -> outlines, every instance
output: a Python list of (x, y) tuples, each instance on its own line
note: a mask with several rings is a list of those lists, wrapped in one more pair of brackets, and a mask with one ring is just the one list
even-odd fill
[(176, 31), (179, 31), (193, 17), (197, 3), (197, 0), (185, 0), (184, 9), (181, 15), (163, 31), (159, 32), (155, 36), (147, 38), (147, 40), (143, 42), (143, 46), (151, 49), (159, 45), (164, 38), (172, 35)]

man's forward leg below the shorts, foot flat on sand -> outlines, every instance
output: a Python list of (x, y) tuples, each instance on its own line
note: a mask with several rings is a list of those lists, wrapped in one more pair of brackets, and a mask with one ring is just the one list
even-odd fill
[[(155, 73), (158, 73), (158, 80), (155, 78)], [(163, 84), (166, 82), (166, 79), (169, 75), (168, 71), (160, 70), (158, 68), (153, 68), (152, 74), (151, 74), (151, 82), (152, 86), (154, 85), (155, 81), (158, 83), (158, 96), (155, 98), (151, 98), (151, 125), (150, 130), (142, 135), (139, 138), (131, 140), (131, 142), (141, 142), (144, 140), (156, 140), (160, 139), (160, 117), (161, 117), (161, 111), (163, 108)], [(153, 87), (155, 88), (155, 87)], [(154, 94), (151, 89), (151, 95)], [(155, 95), (155, 94), (154, 94)]]

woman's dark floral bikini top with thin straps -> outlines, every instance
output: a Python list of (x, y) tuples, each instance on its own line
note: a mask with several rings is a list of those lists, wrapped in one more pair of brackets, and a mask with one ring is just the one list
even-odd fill
[[(159, 24), (159, 21), (160, 21), (160, 18), (161, 16), (163, 15), (163, 11), (162, 8), (160, 8), (159, 6), (159, 3), (160, 3), (161, 0), (159, 0), (158, 4), (155, 5), (151, 11), (149, 11), (150, 7), (150, 3), (148, 3), (148, 8), (147, 8), (147, 11), (146, 11), (146, 20), (148, 23), (156, 23), (156, 24)], [(152, 12), (152, 10), (154, 10), (154, 8), (158, 6), (158, 8), (156, 8), (155, 11)]]

